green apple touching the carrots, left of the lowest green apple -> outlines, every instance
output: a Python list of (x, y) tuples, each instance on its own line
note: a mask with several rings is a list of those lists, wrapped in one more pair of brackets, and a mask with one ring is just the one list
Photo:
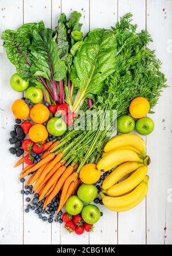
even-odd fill
[(77, 196), (71, 196), (65, 204), (68, 214), (77, 215), (83, 210), (83, 202)]

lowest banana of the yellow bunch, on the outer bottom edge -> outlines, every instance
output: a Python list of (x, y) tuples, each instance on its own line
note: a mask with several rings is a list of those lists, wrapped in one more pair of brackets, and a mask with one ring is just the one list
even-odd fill
[[(112, 196), (104, 196), (103, 204), (112, 210), (112, 208), (126, 208), (127, 210), (130, 207), (134, 207), (139, 204), (140, 201), (143, 200), (144, 196), (146, 196), (148, 191), (148, 184), (145, 181), (141, 181), (141, 183), (130, 193), (124, 196), (112, 197)], [(101, 195), (101, 193), (100, 193)], [(134, 205), (134, 206), (133, 206)], [(127, 211), (126, 210), (126, 211)]]

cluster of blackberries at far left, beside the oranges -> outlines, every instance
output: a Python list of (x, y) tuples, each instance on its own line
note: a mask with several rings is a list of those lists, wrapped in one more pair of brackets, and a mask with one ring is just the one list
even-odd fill
[(21, 148), (22, 142), (24, 141), (26, 134), (22, 130), (20, 119), (15, 119), (16, 125), (14, 125), (14, 130), (10, 131), (9, 142), (10, 145), (14, 145), (9, 149), (11, 154), (16, 154), (17, 157), (22, 156), (24, 154), (24, 150)]

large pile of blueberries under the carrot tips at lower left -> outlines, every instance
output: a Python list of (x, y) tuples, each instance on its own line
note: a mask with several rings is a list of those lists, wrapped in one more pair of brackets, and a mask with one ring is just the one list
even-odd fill
[[(20, 181), (21, 183), (24, 183), (25, 179), (22, 178)], [(39, 195), (37, 193), (34, 193), (32, 185), (25, 185), (25, 190), (22, 189), (21, 194), (26, 196), (30, 194), (33, 196), (32, 199), (30, 197), (26, 197), (26, 202), (29, 204), (25, 208), (25, 212), (30, 212), (30, 210), (33, 210), (38, 215), (38, 217), (42, 219), (43, 222), (48, 221), (49, 223), (52, 223), (54, 220), (54, 222), (62, 223), (62, 211), (58, 212), (58, 215), (56, 215), (56, 217), (54, 218), (59, 204), (58, 195), (54, 197), (51, 203), (47, 205), (46, 210), (43, 210), (45, 198), (38, 202)]]

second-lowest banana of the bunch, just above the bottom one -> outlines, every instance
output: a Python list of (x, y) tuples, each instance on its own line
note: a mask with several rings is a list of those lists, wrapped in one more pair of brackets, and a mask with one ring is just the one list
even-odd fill
[(126, 180), (121, 181), (118, 184), (115, 184), (111, 188), (103, 191), (103, 193), (107, 194), (108, 196), (120, 196), (124, 193), (127, 193), (134, 189), (146, 176), (148, 167), (141, 166), (135, 170), (134, 173), (131, 174)]

